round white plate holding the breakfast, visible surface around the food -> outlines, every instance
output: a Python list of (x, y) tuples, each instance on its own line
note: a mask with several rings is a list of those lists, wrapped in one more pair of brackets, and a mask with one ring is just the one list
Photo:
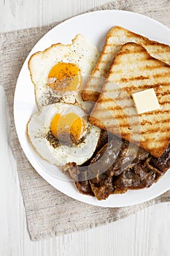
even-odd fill
[(123, 195), (110, 195), (107, 200), (98, 201), (95, 197), (80, 194), (76, 187), (74, 187), (73, 182), (64, 181), (61, 171), (57, 167), (42, 160), (28, 143), (26, 138), (26, 124), (31, 114), (35, 112), (36, 107), (34, 86), (31, 83), (27, 65), (31, 54), (38, 50), (44, 50), (56, 42), (69, 43), (78, 33), (87, 37), (93, 45), (96, 45), (101, 50), (104, 45), (104, 38), (112, 26), (123, 26), (125, 29), (170, 45), (170, 29), (144, 15), (134, 12), (104, 10), (76, 16), (55, 26), (54, 29), (50, 30), (36, 43), (20, 71), (14, 100), (15, 126), (20, 144), (29, 162), (31, 162), (31, 165), (40, 176), (69, 197), (104, 207), (131, 206), (163, 194), (163, 192), (170, 189), (170, 172), (168, 171), (158, 183), (153, 184), (149, 189), (128, 191)]

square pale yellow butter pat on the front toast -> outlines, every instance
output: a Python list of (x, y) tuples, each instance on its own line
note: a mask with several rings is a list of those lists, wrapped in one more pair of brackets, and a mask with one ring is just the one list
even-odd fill
[(136, 111), (139, 114), (160, 109), (158, 98), (156, 97), (153, 88), (136, 92), (135, 94), (132, 94), (132, 97), (134, 99)]

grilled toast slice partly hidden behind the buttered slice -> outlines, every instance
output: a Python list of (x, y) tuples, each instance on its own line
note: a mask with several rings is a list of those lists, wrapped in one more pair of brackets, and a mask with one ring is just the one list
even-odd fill
[(98, 99), (101, 87), (104, 83), (104, 78), (107, 78), (109, 68), (121, 46), (126, 42), (136, 42), (147, 49), (148, 53), (155, 59), (159, 59), (167, 64), (170, 64), (170, 46), (160, 42), (150, 41), (146, 37), (123, 29), (120, 26), (113, 27), (107, 34), (104, 49), (98, 59), (93, 73), (82, 91), (82, 99), (96, 102)]

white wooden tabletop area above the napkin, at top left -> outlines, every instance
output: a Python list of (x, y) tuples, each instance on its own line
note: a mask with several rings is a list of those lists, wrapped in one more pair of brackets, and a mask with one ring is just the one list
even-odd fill
[(0, 32), (42, 26), (107, 2), (109, 0), (1, 0)]

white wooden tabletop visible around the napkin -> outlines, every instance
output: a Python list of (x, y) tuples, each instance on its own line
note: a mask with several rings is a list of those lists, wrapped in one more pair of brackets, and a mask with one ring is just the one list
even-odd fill
[[(0, 31), (51, 23), (70, 17), (106, 0), (1, 0)], [(53, 255), (170, 255), (170, 203), (91, 230), (33, 242), (28, 236), (26, 214), (15, 160), (7, 145), (4, 92), (0, 88), (0, 256)]]

